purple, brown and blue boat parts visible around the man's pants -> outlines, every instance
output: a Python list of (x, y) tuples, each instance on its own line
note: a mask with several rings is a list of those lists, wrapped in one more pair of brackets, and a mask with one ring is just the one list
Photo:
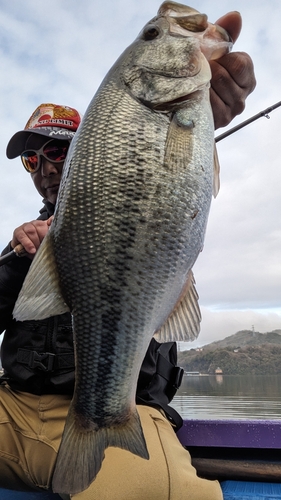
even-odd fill
[[(178, 437), (190, 451), (198, 475), (221, 482), (224, 500), (281, 500), (280, 422), (185, 420)], [(0, 500), (61, 497), (0, 488)]]

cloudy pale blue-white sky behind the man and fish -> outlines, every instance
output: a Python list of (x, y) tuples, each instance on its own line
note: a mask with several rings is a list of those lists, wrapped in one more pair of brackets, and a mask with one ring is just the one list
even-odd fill
[[(41, 199), (10, 137), (43, 102), (84, 112), (121, 52), (157, 12), (156, 0), (0, 0), (0, 247), (35, 219)], [(243, 17), (234, 50), (248, 52), (257, 88), (229, 128), (281, 100), (279, 0), (195, 0), (211, 22)], [(218, 144), (221, 189), (195, 269), (204, 345), (242, 329), (281, 328), (281, 108)], [(217, 135), (224, 130), (217, 132)]]

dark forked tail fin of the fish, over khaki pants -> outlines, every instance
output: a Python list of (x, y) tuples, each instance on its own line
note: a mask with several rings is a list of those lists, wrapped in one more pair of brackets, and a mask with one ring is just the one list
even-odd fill
[(149, 459), (137, 410), (123, 425), (92, 430), (95, 426), (93, 422), (87, 429), (78, 426), (77, 417), (70, 411), (52, 480), (55, 493), (74, 495), (86, 490), (98, 474), (109, 446)]

